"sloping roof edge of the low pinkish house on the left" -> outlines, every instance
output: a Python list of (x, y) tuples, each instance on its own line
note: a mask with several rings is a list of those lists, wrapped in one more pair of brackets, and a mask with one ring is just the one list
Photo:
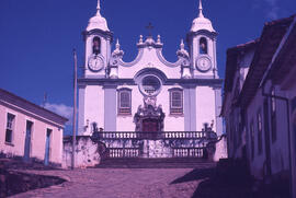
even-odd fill
[(65, 125), (65, 123), (68, 121), (67, 118), (65, 118), (56, 113), (53, 113), (46, 108), (43, 108), (39, 105), (31, 103), (31, 102), (29, 102), (29, 101), (26, 101), (18, 95), (10, 93), (10, 92), (2, 90), (2, 89), (0, 89), (0, 101), (4, 101), (9, 104), (13, 104), (13, 105), (19, 106), (21, 108), (24, 108), (24, 109), (26, 109), (31, 113), (34, 113), (38, 116), (45, 117), (49, 120), (57, 121), (60, 125)]

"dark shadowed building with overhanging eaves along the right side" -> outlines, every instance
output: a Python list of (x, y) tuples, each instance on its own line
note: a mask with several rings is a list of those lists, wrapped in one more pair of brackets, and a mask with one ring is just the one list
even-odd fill
[(292, 178), (293, 190), (295, 74), (296, 15), (266, 23), (259, 40), (228, 50), (221, 110), (229, 156), (246, 158), (258, 178)]

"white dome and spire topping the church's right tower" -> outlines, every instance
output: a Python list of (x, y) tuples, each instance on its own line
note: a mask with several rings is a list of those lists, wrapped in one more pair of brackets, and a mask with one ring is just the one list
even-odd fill
[(202, 0), (200, 0), (200, 14), (198, 18), (194, 19), (192, 22), (192, 26), (191, 26), (191, 32), (197, 32), (197, 31), (208, 31), (208, 32), (215, 32), (215, 30), (213, 28), (212, 22), (206, 19), (203, 14), (203, 4), (202, 4)]

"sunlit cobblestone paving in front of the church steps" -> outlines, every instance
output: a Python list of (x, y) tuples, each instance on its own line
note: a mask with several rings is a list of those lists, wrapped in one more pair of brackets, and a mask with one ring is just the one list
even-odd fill
[(59, 176), (68, 182), (14, 197), (191, 198), (202, 180), (170, 184), (191, 171), (190, 168), (26, 171)]

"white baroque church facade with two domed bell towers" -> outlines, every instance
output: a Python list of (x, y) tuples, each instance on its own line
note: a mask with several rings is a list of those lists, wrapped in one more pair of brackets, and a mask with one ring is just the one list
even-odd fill
[[(223, 133), (221, 84), (217, 69), (217, 33), (200, 13), (177, 51), (178, 61), (162, 55), (161, 37), (144, 37), (135, 46), (138, 55), (124, 61), (118, 40), (96, 14), (83, 32), (86, 62), (79, 79), (78, 132), (204, 131)], [(186, 49), (187, 48), (187, 49)]]

